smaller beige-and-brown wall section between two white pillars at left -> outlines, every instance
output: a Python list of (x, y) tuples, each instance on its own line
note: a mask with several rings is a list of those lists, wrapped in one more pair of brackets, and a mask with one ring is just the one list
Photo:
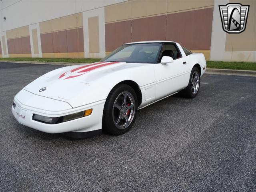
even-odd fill
[(82, 13), (41, 22), (40, 39), (44, 58), (84, 58)]

